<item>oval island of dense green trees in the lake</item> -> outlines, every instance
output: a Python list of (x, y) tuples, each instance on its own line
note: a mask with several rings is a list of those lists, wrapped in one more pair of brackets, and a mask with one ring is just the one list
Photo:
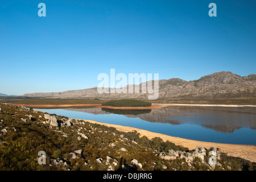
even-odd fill
[(115, 100), (103, 102), (102, 106), (114, 106), (114, 107), (149, 107), (150, 102), (138, 101), (138, 100)]

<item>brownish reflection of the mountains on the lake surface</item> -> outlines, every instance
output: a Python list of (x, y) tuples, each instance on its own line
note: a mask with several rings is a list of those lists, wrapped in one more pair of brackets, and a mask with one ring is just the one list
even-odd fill
[(148, 122), (171, 125), (200, 125), (222, 133), (233, 133), (243, 127), (256, 129), (255, 107), (192, 107), (170, 106), (152, 110), (113, 110), (98, 107), (67, 109), (91, 114), (123, 114), (128, 118), (140, 118)]

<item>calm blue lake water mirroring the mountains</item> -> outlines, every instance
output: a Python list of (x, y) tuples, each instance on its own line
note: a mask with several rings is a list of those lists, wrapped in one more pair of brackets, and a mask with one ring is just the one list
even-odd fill
[(136, 127), (205, 142), (256, 145), (255, 109), (154, 109), (148, 114), (121, 115), (92, 109), (38, 109), (69, 118), (89, 119), (102, 123)]

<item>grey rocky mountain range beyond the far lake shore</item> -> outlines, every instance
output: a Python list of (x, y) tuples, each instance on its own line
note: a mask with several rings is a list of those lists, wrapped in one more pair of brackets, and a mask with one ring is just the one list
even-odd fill
[[(141, 88), (142, 84), (140, 84)], [(127, 88), (127, 87), (125, 87)], [(55, 93), (24, 94), (24, 97), (36, 98), (98, 98), (101, 100), (138, 99), (147, 100), (148, 93), (104, 93), (97, 92), (97, 87), (70, 90)], [(239, 76), (232, 72), (217, 72), (203, 76), (199, 80), (185, 81), (180, 78), (159, 80), (159, 98), (155, 102), (219, 103), (226, 102), (256, 104), (256, 75)]]

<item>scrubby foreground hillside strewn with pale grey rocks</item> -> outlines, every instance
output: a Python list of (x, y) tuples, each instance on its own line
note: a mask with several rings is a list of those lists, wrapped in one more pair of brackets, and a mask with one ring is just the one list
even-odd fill
[[(39, 164), (38, 152), (46, 152)], [(0, 103), (0, 170), (255, 170), (218, 148), (188, 150), (79, 119)]]

